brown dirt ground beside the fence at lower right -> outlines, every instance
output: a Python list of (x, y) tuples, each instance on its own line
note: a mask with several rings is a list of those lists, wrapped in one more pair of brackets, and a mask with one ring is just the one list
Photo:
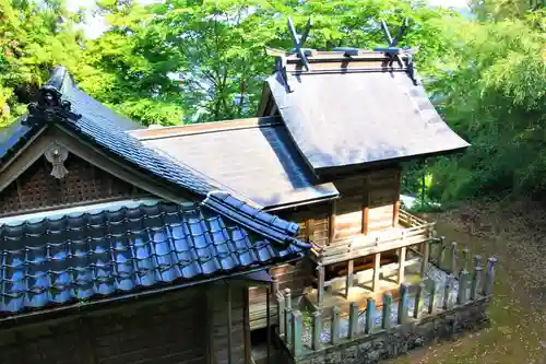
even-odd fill
[(392, 361), (402, 363), (546, 363), (546, 211), (530, 201), (466, 206), (427, 216), (439, 235), (499, 259), (491, 327)]

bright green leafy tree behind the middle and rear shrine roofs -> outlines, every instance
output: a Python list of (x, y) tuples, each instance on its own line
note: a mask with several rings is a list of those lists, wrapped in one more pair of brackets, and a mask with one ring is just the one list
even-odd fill
[[(265, 46), (292, 48), (286, 20), (297, 27), (309, 16), (308, 46), (373, 47), (384, 44), (378, 20), (400, 25), (408, 16), (405, 42), (423, 46), (425, 72), (434, 72), (448, 47), (438, 37), (448, 11), (416, 1), (167, 0), (141, 8), (131, 2), (103, 4), (111, 30), (90, 43), (90, 64), (99, 70), (82, 79), (92, 94), (144, 124), (174, 124), (246, 117), (254, 113), (262, 81), (273, 69)], [(181, 79), (181, 86), (168, 75)], [(97, 79), (103, 79), (96, 81)], [(145, 105), (145, 107), (142, 107)], [(173, 117), (161, 110), (177, 109)], [(146, 111), (146, 113), (141, 113)]]

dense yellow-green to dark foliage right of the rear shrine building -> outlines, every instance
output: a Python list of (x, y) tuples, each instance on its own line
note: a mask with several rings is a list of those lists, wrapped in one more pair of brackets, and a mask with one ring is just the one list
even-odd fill
[(447, 121), (471, 149), (431, 168), (435, 197), (546, 188), (545, 33), (525, 21), (468, 24), (451, 56), (456, 68), (432, 84)]

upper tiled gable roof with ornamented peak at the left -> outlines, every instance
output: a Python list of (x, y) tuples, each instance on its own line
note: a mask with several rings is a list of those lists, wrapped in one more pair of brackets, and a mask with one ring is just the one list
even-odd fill
[(62, 67), (40, 89), (38, 103), (29, 106), (29, 114), (10, 128), (11, 136), (0, 139), (0, 166), (48, 122), (59, 124), (131, 167), (197, 196), (224, 189), (202, 173), (145, 146), (126, 132), (131, 124), (79, 90)]

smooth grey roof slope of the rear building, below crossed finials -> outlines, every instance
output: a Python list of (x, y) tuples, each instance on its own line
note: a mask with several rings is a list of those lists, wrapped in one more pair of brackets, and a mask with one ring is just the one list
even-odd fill
[(301, 154), (316, 171), (448, 153), (468, 146), (405, 72), (289, 75), (268, 83)]

